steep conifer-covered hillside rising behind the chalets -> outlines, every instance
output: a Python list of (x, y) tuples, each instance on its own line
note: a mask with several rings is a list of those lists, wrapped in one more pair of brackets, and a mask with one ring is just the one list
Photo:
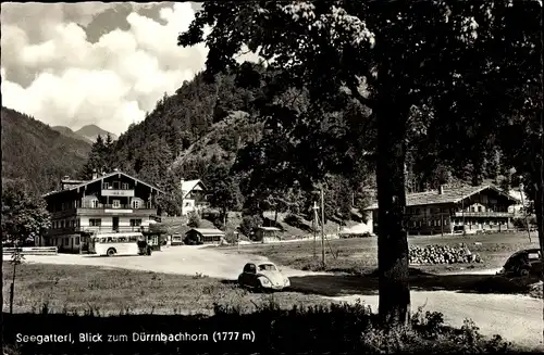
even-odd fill
[[(290, 117), (309, 110), (305, 90), (293, 88), (279, 98), (280, 111), (274, 105), (257, 110), (268, 93), (263, 83), (251, 81), (251, 71), (211, 79), (199, 74), (184, 83), (118, 141), (95, 144), (86, 174), (102, 165), (119, 167), (171, 192), (182, 178), (200, 178), (223, 216), (233, 210), (260, 217), (263, 211), (308, 215), (319, 199), (319, 185), (325, 192), (325, 218), (339, 223), (355, 218), (375, 189), (373, 116), (366, 107), (345, 102), (334, 114), (318, 118), (320, 112), (314, 112), (306, 124), (295, 126)], [(269, 80), (274, 75), (269, 74)], [(500, 183), (509, 174), (498, 154), (478, 162), (446, 161), (422, 134), (425, 114), (415, 111), (410, 122), (408, 191), (442, 183)], [(271, 115), (282, 117), (281, 124), (270, 126)], [(304, 131), (308, 131), (305, 139), (289, 139)], [(163, 207), (176, 214), (172, 199)]]

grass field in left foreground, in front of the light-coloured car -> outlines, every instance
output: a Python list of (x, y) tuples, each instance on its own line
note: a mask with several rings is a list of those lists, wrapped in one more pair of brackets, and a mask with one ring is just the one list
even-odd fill
[[(3, 264), (4, 312), (9, 310), (12, 265)], [(143, 272), (77, 265), (23, 264), (17, 266), (14, 312), (41, 312), (100, 315), (129, 314), (211, 314), (213, 304), (252, 312), (257, 306), (277, 302), (281, 307), (295, 304), (327, 304), (316, 295), (294, 292), (248, 293), (235, 284), (196, 276)]]

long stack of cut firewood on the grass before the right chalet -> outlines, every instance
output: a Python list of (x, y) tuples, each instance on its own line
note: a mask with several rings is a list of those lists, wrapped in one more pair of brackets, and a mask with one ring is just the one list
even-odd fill
[(481, 263), (480, 255), (473, 254), (466, 246), (426, 245), (410, 246), (410, 264), (463, 264)]

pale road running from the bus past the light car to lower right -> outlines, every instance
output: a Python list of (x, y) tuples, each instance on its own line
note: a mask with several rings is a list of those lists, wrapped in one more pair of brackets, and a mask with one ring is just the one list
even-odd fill
[[(201, 272), (209, 277), (224, 279), (236, 279), (244, 264), (249, 261), (267, 259), (262, 256), (225, 254), (218, 250), (198, 246), (170, 248), (162, 252), (156, 252), (151, 256), (28, 255), (25, 258), (27, 262), (35, 263), (96, 265), (166, 274), (195, 275)], [(366, 292), (362, 292), (364, 294), (360, 294), (361, 291), (357, 290), (360, 290), (361, 280), (354, 277), (300, 271), (287, 267), (282, 267), (282, 270), (293, 278), (292, 283), (295, 289), (299, 284), (304, 292), (324, 294), (327, 299), (335, 301), (353, 302), (360, 299), (366, 304), (371, 305), (373, 309), (378, 309), (378, 295), (375, 294), (375, 284), (372, 286), (372, 282), (369, 283), (370, 286), (366, 286)], [(479, 274), (489, 275), (494, 274), (494, 271), (479, 271)], [(449, 277), (452, 280), (456, 280), (455, 276)], [(544, 312), (542, 300), (523, 295), (442, 291), (444, 288), (423, 291), (424, 287), (413, 288), (422, 291), (412, 289), (412, 309), (426, 304), (425, 310), (443, 313), (446, 321), (453, 326), (461, 326), (466, 318), (472, 318), (483, 334), (498, 333), (520, 345), (531, 347), (543, 345)], [(327, 295), (329, 291), (336, 295)]]

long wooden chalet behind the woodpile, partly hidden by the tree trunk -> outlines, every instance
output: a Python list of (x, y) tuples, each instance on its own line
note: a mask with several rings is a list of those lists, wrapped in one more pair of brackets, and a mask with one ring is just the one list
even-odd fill
[[(406, 195), (406, 226), (409, 234), (445, 234), (454, 232), (512, 229), (516, 216), (512, 205), (520, 202), (495, 186), (460, 187)], [(367, 208), (369, 224), (378, 231), (378, 203)]]

